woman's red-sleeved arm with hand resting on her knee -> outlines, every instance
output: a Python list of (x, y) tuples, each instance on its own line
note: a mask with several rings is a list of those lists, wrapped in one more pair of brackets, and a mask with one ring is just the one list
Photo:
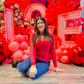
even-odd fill
[(29, 71), (29, 76), (31, 78), (35, 77), (35, 74), (37, 74), (37, 69), (36, 69), (36, 48), (34, 46), (34, 39), (35, 34), (31, 34), (30, 35), (30, 57), (31, 57), (31, 67), (30, 67), (30, 71)]

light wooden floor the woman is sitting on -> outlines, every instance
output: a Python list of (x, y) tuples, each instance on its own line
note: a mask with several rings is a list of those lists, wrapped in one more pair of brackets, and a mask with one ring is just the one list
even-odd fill
[(51, 61), (49, 71), (36, 80), (21, 74), (11, 64), (0, 65), (0, 84), (84, 84), (84, 67), (74, 64), (62, 64), (58, 67), (64, 72), (57, 74)]

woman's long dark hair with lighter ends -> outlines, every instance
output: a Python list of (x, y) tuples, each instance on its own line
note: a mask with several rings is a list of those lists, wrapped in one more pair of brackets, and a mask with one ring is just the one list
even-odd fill
[(36, 35), (35, 35), (35, 37), (34, 37), (34, 43), (35, 43), (35, 41), (38, 41), (39, 38), (40, 38), (40, 31), (39, 31), (39, 29), (38, 29), (38, 27), (37, 27), (37, 21), (38, 21), (39, 19), (41, 19), (41, 20), (44, 22), (44, 24), (45, 24), (44, 37), (45, 37), (47, 40), (50, 40), (50, 41), (52, 42), (52, 37), (51, 37), (51, 35), (50, 35), (49, 32), (48, 32), (47, 22), (46, 22), (45, 18), (43, 18), (43, 17), (40, 16), (40, 17), (37, 17), (37, 18), (36, 18), (36, 22), (35, 22), (35, 28), (34, 28), (34, 30), (35, 30), (35, 32), (36, 32)]

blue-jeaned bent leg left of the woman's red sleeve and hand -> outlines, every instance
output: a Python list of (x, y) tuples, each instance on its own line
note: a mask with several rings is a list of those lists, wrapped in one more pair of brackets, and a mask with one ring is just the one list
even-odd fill
[(26, 73), (26, 71), (30, 66), (31, 66), (31, 58), (29, 56), (26, 60), (17, 65), (17, 69), (22, 73)]

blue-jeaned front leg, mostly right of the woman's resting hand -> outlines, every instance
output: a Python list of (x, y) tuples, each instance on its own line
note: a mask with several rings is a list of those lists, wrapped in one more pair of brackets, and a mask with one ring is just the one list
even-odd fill
[[(36, 63), (37, 74), (32, 79), (36, 79), (36, 78), (40, 77), (41, 75), (43, 75), (45, 72), (47, 72), (47, 70), (49, 69), (49, 66), (50, 66), (50, 62), (48, 62), (48, 63), (43, 63), (43, 62)], [(30, 68), (27, 71), (27, 76), (29, 76), (29, 71), (30, 71)]]

